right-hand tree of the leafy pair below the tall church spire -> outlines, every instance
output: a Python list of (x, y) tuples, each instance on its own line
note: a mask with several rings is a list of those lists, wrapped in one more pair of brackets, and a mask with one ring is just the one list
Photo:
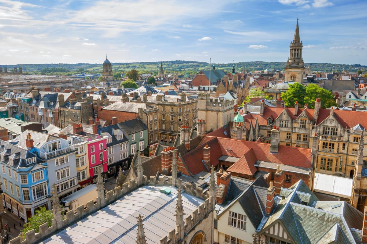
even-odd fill
[(323, 89), (316, 84), (306, 86), (304, 103), (309, 108), (315, 108), (316, 98), (320, 98), (321, 108), (337, 106), (337, 103), (334, 101), (334, 94), (331, 91)]

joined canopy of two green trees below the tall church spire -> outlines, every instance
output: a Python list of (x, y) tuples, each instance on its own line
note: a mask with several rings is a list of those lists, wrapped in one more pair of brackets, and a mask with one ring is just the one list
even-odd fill
[(284, 98), (287, 107), (294, 107), (295, 102), (298, 101), (300, 106), (307, 104), (309, 108), (315, 108), (316, 98), (320, 98), (321, 108), (330, 108), (337, 105), (334, 101), (334, 94), (316, 84), (310, 84), (305, 87), (296, 82), (289, 85), (288, 91), (282, 93), (281, 97)]

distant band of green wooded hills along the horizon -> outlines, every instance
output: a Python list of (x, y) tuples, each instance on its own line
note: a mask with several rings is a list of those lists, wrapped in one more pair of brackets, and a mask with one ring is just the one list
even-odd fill
[[(216, 68), (230, 71), (232, 63), (229, 64), (215, 64)], [(250, 61), (235, 63), (237, 71), (247, 69), (247, 71), (265, 70), (266, 68), (284, 70), (285, 62), (264, 62), (264, 61)], [(360, 64), (330, 64), (330, 63), (307, 63), (311, 66), (312, 71), (331, 72), (338, 71), (352, 71), (367, 70), (366, 65)], [(165, 61), (163, 62), (163, 69), (165, 72), (198, 72), (203, 69), (208, 69), (209, 64), (198, 61)], [(12, 69), (14, 67), (22, 67), (23, 72), (29, 73), (44, 73), (44, 74), (76, 74), (80, 72), (86, 73), (100, 73), (102, 72), (102, 64), (15, 64), (15, 65), (0, 65), (0, 67), (7, 67)], [(115, 72), (127, 72), (132, 69), (138, 70), (141, 73), (157, 73), (159, 72), (160, 62), (140, 62), (140, 63), (112, 63), (112, 68)]]

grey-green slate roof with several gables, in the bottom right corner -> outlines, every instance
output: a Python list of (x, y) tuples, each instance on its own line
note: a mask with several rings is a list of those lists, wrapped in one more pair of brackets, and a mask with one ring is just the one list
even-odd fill
[[(302, 180), (289, 190), (291, 193), (279, 201), (259, 234), (280, 221), (295, 243), (320, 244), (332, 239), (336, 240), (335, 243), (360, 243), (351, 229), (362, 229), (363, 214), (349, 203), (318, 201)], [(302, 202), (299, 192), (310, 196), (308, 203)], [(331, 205), (337, 203), (340, 206), (331, 209)]]

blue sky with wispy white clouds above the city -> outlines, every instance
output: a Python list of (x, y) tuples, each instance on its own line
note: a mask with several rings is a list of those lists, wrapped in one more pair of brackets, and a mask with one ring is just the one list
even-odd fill
[(286, 61), (367, 65), (366, 0), (0, 0), (0, 63)]

